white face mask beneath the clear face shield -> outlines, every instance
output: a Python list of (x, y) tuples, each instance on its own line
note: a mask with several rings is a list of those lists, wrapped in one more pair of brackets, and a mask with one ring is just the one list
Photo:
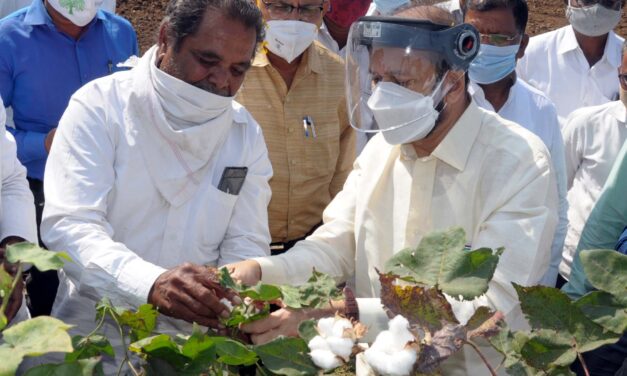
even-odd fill
[(439, 112), (432, 95), (424, 96), (392, 82), (379, 82), (368, 99), (368, 107), (388, 143), (408, 144), (427, 137), (435, 127)]

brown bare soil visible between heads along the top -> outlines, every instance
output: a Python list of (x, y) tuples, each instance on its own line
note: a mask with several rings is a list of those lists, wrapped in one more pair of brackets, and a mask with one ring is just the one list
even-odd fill
[[(529, 24), (527, 32), (537, 35), (566, 25), (563, 0), (528, 0)], [(168, 0), (118, 0), (117, 11), (126, 17), (137, 31), (142, 52), (156, 42), (159, 24)], [(627, 36), (627, 17), (623, 16), (615, 30)]]

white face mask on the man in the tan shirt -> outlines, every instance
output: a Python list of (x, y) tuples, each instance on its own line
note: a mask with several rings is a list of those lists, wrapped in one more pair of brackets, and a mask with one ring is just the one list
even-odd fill
[(273, 54), (291, 63), (316, 39), (318, 27), (303, 21), (268, 21), (267, 48)]

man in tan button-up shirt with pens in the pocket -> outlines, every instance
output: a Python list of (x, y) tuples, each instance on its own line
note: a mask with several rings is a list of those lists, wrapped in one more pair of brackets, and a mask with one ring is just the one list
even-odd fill
[(272, 250), (310, 234), (355, 159), (344, 100), (344, 66), (315, 42), (326, 0), (260, 0), (264, 50), (237, 95), (259, 122), (274, 175), (268, 208)]

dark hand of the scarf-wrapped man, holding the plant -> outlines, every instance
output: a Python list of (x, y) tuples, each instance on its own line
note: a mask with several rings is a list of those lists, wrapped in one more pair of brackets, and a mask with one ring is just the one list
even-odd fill
[(237, 299), (212, 278), (206, 267), (186, 263), (157, 278), (148, 303), (167, 316), (215, 329), (222, 328), (218, 317), (229, 316), (226, 306), (220, 303), (222, 298)]

